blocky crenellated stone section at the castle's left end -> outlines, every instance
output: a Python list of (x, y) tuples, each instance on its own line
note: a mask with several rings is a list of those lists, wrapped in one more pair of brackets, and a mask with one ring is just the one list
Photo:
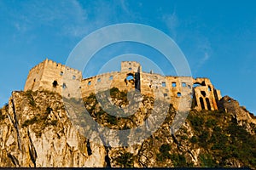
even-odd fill
[(45, 59), (44, 62), (29, 72), (25, 91), (29, 89), (35, 91), (39, 88), (44, 88), (58, 94), (63, 94), (65, 97), (78, 97), (81, 80), (81, 71)]

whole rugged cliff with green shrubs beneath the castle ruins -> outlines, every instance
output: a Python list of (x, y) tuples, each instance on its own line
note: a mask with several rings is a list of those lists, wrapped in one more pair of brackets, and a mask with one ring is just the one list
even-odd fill
[[(126, 94), (114, 89), (113, 105), (124, 111)], [(148, 117), (154, 99), (133, 96), (140, 107), (134, 116), (117, 119), (102, 111), (95, 95), (84, 105), (96, 122), (113, 129), (137, 127)], [(75, 105), (75, 101), (73, 104)], [(107, 105), (108, 106), (108, 105)], [(13, 92), (0, 115), (0, 167), (256, 167), (255, 117), (224, 97), (221, 111), (190, 111), (177, 133), (170, 133), (170, 106), (165, 122), (142, 144), (111, 147), (96, 144), (70, 121), (59, 94)], [(165, 105), (161, 106), (165, 109)], [(159, 108), (158, 111), (161, 111)], [(82, 117), (79, 117), (82, 119)], [(86, 127), (86, 120), (82, 121)], [(127, 134), (106, 134), (123, 142)], [(102, 135), (104, 143), (104, 135)]]

